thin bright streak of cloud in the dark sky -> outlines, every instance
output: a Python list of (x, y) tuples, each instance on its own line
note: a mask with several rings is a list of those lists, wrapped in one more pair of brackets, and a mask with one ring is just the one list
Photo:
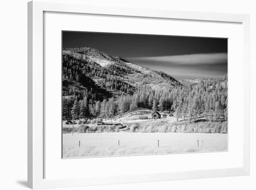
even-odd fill
[(157, 56), (157, 57), (130, 57), (129, 61), (139, 62), (164, 62), (169, 65), (193, 65), (193, 64), (221, 64), (228, 60), (227, 53), (198, 53), (188, 55)]

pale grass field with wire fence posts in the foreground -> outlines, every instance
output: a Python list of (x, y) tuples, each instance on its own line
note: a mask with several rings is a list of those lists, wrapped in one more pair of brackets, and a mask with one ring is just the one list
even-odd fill
[(63, 158), (228, 151), (228, 134), (219, 133), (69, 133), (62, 138)]

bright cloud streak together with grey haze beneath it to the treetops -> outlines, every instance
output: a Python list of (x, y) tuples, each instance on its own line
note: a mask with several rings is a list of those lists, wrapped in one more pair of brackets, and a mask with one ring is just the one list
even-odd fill
[(165, 72), (176, 79), (216, 78), (228, 72), (227, 53), (130, 57), (128, 61)]

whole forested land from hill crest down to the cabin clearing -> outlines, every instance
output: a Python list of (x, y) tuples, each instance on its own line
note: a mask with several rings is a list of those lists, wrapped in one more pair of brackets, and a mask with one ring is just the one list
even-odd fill
[[(202, 115), (208, 121), (227, 118), (226, 75), (177, 81), (164, 72), (144, 72), (124, 59), (95, 50), (67, 52), (62, 53), (63, 120), (114, 118), (143, 108), (171, 111), (177, 120), (184, 118), (190, 122)], [(104, 61), (111, 64), (102, 66)], [(166, 85), (157, 88), (148, 81)]]

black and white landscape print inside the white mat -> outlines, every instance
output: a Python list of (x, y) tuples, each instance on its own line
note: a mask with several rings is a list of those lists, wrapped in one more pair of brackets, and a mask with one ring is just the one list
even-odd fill
[(228, 151), (228, 39), (62, 31), (62, 158)]

